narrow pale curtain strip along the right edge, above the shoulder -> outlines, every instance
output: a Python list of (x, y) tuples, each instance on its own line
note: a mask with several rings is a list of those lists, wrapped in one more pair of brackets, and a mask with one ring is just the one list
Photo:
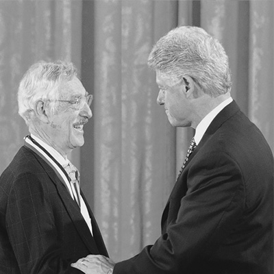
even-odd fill
[(274, 2), (251, 1), (249, 40), (249, 117), (274, 151)]

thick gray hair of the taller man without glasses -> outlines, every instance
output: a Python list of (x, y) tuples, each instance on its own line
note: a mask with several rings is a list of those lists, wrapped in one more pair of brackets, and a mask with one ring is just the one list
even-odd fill
[(211, 97), (230, 91), (227, 54), (221, 43), (200, 27), (177, 27), (160, 38), (149, 54), (148, 65), (171, 82), (188, 75)]

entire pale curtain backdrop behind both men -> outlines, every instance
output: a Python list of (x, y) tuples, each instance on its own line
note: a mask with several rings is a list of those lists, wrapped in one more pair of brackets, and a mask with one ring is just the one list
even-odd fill
[(273, 13), (272, 0), (1, 0), (0, 171), (27, 133), (16, 114), (23, 73), (41, 59), (72, 60), (95, 100), (86, 143), (71, 157), (110, 256), (134, 256), (160, 235), (193, 134), (171, 127), (156, 103), (151, 47), (177, 25), (200, 25), (219, 38), (232, 96), (274, 151)]

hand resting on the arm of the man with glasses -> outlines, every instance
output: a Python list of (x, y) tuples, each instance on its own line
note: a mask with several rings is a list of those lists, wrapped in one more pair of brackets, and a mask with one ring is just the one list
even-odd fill
[(88, 255), (71, 264), (86, 274), (108, 274), (114, 268), (114, 262), (103, 255)]

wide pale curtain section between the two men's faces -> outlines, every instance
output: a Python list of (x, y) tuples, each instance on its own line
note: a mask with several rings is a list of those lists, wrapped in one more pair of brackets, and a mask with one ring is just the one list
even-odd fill
[(176, 5), (95, 1), (95, 215), (117, 260), (160, 233), (175, 180), (175, 129), (156, 104), (147, 58), (158, 36), (177, 24), (177, 16), (162, 16)]

